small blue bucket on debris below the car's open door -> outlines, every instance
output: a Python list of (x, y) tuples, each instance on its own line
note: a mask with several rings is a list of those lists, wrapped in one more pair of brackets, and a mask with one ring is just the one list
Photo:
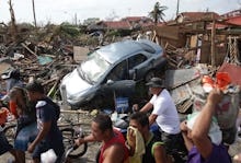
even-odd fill
[(115, 98), (115, 110), (117, 113), (127, 113), (129, 108), (128, 97)]

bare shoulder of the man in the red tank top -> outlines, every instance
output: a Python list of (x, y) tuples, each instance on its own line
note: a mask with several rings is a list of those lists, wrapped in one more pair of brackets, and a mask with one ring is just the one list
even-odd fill
[(124, 148), (120, 144), (113, 144), (107, 148), (103, 153), (103, 163), (123, 163), (124, 162)]

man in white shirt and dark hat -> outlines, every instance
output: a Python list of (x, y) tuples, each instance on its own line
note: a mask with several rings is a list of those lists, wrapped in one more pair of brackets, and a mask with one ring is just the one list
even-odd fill
[(154, 121), (158, 124), (167, 151), (171, 152), (181, 141), (180, 118), (175, 104), (160, 78), (152, 78), (146, 85), (153, 96), (140, 112), (152, 109), (149, 116), (150, 125)]

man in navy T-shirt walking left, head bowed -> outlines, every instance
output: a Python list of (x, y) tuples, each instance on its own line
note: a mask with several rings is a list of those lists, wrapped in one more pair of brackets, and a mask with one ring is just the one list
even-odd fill
[(56, 163), (60, 163), (65, 152), (62, 135), (57, 126), (60, 114), (59, 106), (44, 93), (44, 86), (38, 81), (26, 84), (30, 101), (37, 102), (36, 117), (38, 135), (28, 145), (27, 151), (33, 153), (33, 162), (41, 162), (41, 154), (53, 149), (57, 155)]

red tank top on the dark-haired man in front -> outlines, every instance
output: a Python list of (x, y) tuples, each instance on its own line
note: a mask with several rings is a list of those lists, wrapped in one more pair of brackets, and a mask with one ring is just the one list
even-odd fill
[(122, 144), (123, 148), (124, 148), (124, 151), (125, 151), (125, 155), (124, 155), (124, 160), (123, 162), (125, 162), (127, 160), (127, 158), (129, 156), (129, 152), (128, 152), (128, 149), (125, 144), (125, 138), (123, 137), (122, 132), (114, 129), (114, 137), (108, 140), (106, 143), (104, 143), (102, 147), (101, 147), (101, 154), (100, 154), (100, 158), (99, 158), (99, 163), (102, 163), (104, 158), (103, 158), (103, 153), (104, 151), (111, 147), (112, 144), (115, 144), (115, 143), (118, 143), (118, 144)]

